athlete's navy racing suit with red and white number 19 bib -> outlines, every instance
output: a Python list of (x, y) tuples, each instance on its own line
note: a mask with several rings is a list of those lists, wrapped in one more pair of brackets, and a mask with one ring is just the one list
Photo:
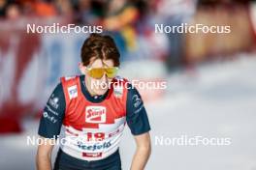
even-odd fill
[(133, 135), (150, 130), (138, 91), (125, 79), (112, 81), (115, 83), (105, 95), (92, 97), (84, 75), (61, 78), (48, 99), (38, 130), (40, 136), (59, 136), (64, 141), (54, 169), (119, 170), (118, 147), (126, 123)]

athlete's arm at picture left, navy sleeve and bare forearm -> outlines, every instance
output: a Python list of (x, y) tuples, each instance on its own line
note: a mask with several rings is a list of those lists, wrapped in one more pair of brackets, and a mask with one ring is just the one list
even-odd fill
[(36, 156), (38, 170), (51, 170), (51, 152), (54, 146), (52, 144), (59, 135), (65, 108), (63, 88), (61, 84), (58, 84), (48, 99), (40, 120), (38, 134), (41, 141), (46, 141), (46, 143), (44, 142), (43, 145), (38, 146)]

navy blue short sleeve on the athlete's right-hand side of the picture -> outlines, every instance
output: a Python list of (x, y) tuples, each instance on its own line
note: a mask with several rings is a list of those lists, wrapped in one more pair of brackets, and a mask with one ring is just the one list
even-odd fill
[(131, 85), (126, 101), (126, 122), (133, 135), (143, 134), (150, 130), (144, 101), (137, 89)]

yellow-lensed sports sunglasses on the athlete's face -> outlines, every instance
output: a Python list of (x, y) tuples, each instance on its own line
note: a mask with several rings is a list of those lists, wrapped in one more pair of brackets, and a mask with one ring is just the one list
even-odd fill
[(88, 74), (92, 78), (100, 79), (100, 78), (102, 78), (102, 76), (104, 75), (105, 72), (106, 72), (106, 75), (108, 76), (108, 78), (115, 77), (115, 75), (118, 71), (118, 68), (117, 67), (112, 67), (112, 68), (86, 68), (86, 70), (88, 71)]

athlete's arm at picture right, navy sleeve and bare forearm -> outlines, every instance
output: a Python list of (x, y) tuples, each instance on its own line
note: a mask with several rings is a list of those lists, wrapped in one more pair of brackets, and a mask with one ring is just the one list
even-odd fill
[[(131, 86), (130, 86), (131, 87)], [(135, 88), (128, 90), (126, 103), (126, 121), (136, 141), (136, 153), (133, 156), (131, 170), (144, 170), (151, 153), (149, 122), (144, 108), (144, 102)]]

